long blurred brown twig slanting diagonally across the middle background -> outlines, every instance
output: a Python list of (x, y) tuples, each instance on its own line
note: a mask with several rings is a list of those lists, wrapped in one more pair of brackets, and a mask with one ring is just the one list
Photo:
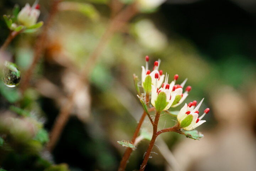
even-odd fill
[(50, 133), (50, 141), (47, 145), (47, 149), (52, 151), (55, 144), (57, 143), (59, 136), (69, 119), (70, 112), (74, 105), (74, 97), (77, 92), (81, 89), (82, 85), (87, 84), (87, 80), (90, 72), (94, 68), (96, 61), (100, 54), (102, 53), (104, 47), (107, 45), (107, 42), (113, 36), (113, 34), (122, 28), (135, 14), (137, 14), (138, 10), (136, 7), (136, 3), (133, 3), (123, 10), (121, 10), (115, 17), (113, 17), (108, 25), (105, 33), (101, 37), (99, 43), (97, 44), (94, 51), (91, 53), (90, 57), (87, 60), (86, 65), (81, 71), (80, 83), (76, 86), (76, 89), (70, 94), (67, 102), (60, 109), (60, 113), (58, 117), (55, 119), (55, 123), (53, 125), (52, 131)]

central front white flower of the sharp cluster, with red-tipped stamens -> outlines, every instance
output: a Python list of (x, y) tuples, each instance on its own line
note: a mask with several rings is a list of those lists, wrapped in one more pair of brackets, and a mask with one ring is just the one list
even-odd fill
[[(157, 73), (155, 75), (155, 77), (157, 78)], [(162, 87), (160, 89), (158, 89), (158, 81), (156, 81), (155, 85), (152, 85), (152, 89), (151, 89), (151, 104), (155, 107), (155, 101), (159, 95), (160, 92), (164, 92), (166, 94), (166, 102), (168, 103), (166, 105), (166, 107), (163, 109), (164, 111), (169, 109), (172, 105), (172, 103), (175, 100), (175, 97), (177, 95), (182, 95), (182, 88), (179, 87), (176, 89), (175, 86), (175, 81), (172, 81), (171, 84), (168, 84), (168, 78), (169, 75), (166, 76), (165, 78), (165, 82), (162, 84)], [(160, 84), (161, 85), (161, 84)]]

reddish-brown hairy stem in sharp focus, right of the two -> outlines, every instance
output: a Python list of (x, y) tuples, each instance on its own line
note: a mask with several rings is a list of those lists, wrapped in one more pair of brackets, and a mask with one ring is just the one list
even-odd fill
[(160, 113), (161, 112), (156, 112), (156, 117), (155, 117), (155, 121), (154, 121), (154, 125), (153, 125), (153, 135), (152, 135), (151, 141), (149, 143), (148, 149), (146, 150), (144, 160), (143, 160), (142, 164), (140, 165), (140, 171), (144, 171), (144, 169), (146, 167), (146, 164), (148, 163), (148, 159), (149, 159), (149, 156), (150, 156), (151, 151), (153, 149), (153, 146), (155, 144), (156, 137), (158, 136), (157, 128), (158, 128)]

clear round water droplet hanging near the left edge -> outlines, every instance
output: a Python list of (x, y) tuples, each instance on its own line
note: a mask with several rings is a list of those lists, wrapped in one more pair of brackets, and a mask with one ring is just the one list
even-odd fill
[(16, 87), (21, 79), (21, 71), (16, 64), (5, 61), (2, 80), (7, 87)]

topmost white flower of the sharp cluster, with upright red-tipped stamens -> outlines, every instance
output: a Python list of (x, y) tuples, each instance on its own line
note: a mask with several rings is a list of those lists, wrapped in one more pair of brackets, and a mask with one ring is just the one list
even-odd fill
[[(143, 83), (145, 81), (146, 76), (150, 75), (151, 79), (152, 79), (152, 84), (155, 86), (156, 81), (158, 81), (158, 86), (159, 86), (158, 88), (160, 88), (162, 82), (164, 81), (164, 77), (165, 77), (165, 75), (162, 74), (162, 70), (158, 71), (161, 60), (158, 59), (158, 61), (155, 61), (153, 71), (150, 72), (150, 70), (148, 69), (149, 57), (146, 56), (145, 59), (146, 59), (146, 68), (144, 66), (142, 66), (142, 87), (144, 88)], [(158, 79), (155, 78), (156, 73), (158, 75), (160, 75), (158, 77)]]

